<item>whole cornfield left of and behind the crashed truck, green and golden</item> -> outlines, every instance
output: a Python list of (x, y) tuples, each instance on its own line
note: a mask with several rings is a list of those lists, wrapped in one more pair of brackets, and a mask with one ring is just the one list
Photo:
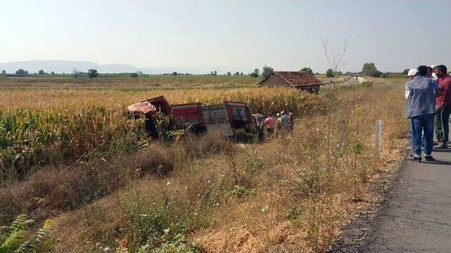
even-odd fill
[[(142, 145), (137, 124), (126, 124), (127, 105), (161, 92), (86, 90), (5, 91), (0, 108), (0, 182), (23, 179), (36, 165), (131, 153)], [(325, 96), (288, 89), (170, 91), (170, 103), (245, 101), (252, 111), (295, 115), (326, 111)], [(39, 98), (39, 99), (36, 99)]]

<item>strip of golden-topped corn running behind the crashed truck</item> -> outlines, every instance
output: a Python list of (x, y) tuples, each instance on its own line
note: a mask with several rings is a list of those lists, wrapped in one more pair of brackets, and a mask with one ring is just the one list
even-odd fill
[(52, 109), (58, 112), (84, 110), (99, 105), (123, 112), (128, 105), (155, 96), (165, 96), (169, 103), (194, 103), (205, 105), (235, 100), (249, 103), (252, 111), (275, 114), (291, 110), (296, 115), (318, 112), (328, 104), (326, 96), (317, 96), (292, 89), (241, 88), (241, 89), (187, 89), (176, 91), (118, 91), (87, 89), (44, 89), (2, 91), (0, 108)]

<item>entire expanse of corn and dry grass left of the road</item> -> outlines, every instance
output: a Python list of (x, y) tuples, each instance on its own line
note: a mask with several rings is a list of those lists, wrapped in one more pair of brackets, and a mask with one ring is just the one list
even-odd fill
[[(326, 251), (402, 160), (403, 80), (318, 95), (259, 80), (0, 79), (0, 225), (20, 214), (35, 228), (46, 221), (37, 252)], [(244, 101), (264, 115), (290, 110), (295, 130), (246, 145), (218, 133), (143, 138), (125, 109), (160, 95), (170, 103)]]

